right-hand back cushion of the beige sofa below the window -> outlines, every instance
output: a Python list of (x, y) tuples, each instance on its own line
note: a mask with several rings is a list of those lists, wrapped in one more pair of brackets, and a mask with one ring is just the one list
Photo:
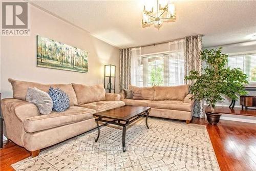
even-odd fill
[(188, 85), (155, 86), (154, 100), (184, 100), (188, 94)]

